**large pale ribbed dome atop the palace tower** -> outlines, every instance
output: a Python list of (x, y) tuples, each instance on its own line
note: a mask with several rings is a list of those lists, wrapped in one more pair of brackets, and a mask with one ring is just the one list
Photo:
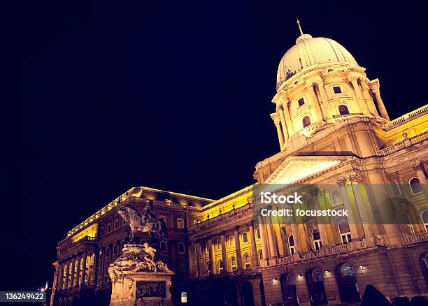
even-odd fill
[(276, 89), (304, 68), (326, 63), (348, 63), (358, 66), (352, 54), (329, 38), (302, 34), (296, 45), (285, 52), (278, 66)]

